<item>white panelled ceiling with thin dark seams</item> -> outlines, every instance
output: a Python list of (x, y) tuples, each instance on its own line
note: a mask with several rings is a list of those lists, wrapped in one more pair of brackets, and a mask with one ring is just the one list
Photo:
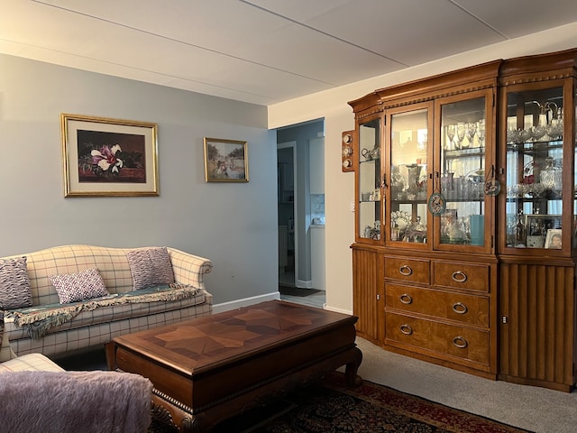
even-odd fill
[(268, 106), (574, 22), (576, 0), (2, 0), (0, 52)]

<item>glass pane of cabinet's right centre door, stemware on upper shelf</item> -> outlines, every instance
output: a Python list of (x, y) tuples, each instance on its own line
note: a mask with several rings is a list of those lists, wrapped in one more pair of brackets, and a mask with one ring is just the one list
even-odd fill
[[(441, 101), (440, 173), (435, 189), (445, 199), (445, 210), (435, 224), (438, 242), (444, 245), (485, 245), (486, 181), (495, 176), (487, 163), (487, 97)], [(490, 152), (489, 152), (490, 154)], [(498, 191), (496, 191), (498, 192)], [(435, 218), (436, 219), (436, 218)], [(437, 236), (435, 236), (435, 240)]]

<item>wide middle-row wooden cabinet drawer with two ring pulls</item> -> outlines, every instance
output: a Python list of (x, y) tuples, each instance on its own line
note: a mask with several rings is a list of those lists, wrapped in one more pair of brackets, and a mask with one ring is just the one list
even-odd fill
[(489, 327), (489, 299), (482, 296), (385, 284), (385, 299), (388, 309)]

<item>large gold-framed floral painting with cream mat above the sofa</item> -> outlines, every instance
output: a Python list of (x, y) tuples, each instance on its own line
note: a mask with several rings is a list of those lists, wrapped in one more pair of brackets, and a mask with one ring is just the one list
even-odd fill
[(158, 196), (157, 125), (60, 115), (64, 197)]

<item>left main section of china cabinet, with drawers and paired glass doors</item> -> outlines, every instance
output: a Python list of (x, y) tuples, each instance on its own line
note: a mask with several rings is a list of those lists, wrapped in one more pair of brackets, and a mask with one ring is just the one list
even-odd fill
[(350, 103), (357, 331), (389, 350), (493, 378), (499, 64)]

